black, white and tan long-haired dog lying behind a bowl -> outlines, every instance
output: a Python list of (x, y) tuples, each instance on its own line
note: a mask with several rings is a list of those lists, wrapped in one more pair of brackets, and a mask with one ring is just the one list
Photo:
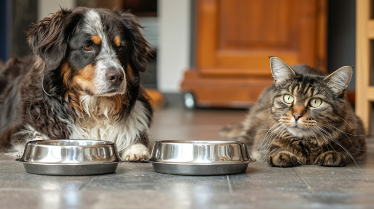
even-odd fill
[(43, 139), (116, 143), (149, 157), (152, 108), (140, 83), (153, 49), (128, 11), (63, 9), (31, 25), (33, 56), (0, 67), (0, 149), (21, 156)]

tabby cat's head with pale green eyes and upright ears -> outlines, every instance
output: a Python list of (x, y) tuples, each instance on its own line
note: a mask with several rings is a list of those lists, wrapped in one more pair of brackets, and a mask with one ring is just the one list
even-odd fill
[(295, 71), (281, 59), (271, 57), (270, 67), (275, 81), (270, 111), (282, 128), (301, 138), (344, 123), (344, 92), (352, 78), (351, 66), (321, 76)]

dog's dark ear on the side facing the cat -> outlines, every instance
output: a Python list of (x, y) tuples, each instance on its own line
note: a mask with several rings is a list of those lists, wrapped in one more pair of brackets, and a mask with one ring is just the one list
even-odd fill
[(139, 30), (142, 26), (139, 24), (138, 18), (125, 10), (116, 13), (121, 16), (122, 24), (128, 33), (127, 35), (130, 36), (129, 41), (132, 46), (130, 54), (131, 67), (140, 72), (146, 72), (148, 64), (147, 58), (149, 54), (153, 53), (153, 49)]

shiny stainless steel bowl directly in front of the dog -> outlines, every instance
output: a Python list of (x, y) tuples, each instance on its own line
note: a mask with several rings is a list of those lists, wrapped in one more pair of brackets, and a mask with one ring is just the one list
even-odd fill
[(113, 173), (126, 160), (113, 142), (60, 139), (30, 141), (16, 161), (33, 174), (77, 176)]

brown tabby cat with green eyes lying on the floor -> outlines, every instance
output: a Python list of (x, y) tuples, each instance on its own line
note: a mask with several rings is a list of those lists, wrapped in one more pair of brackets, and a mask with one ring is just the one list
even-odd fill
[(363, 160), (365, 130), (345, 90), (353, 68), (327, 76), (307, 65), (288, 66), (270, 57), (274, 84), (249, 110), (243, 125), (228, 126), (220, 135), (244, 141), (252, 155), (270, 166), (306, 164), (345, 166)]

